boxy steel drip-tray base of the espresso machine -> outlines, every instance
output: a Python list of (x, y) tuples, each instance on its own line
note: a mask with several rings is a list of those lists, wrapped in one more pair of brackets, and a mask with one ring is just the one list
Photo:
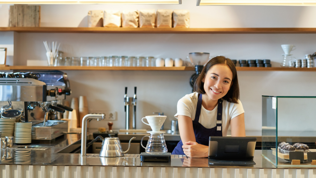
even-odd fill
[(44, 122), (32, 125), (32, 140), (52, 140), (68, 130), (67, 121), (49, 120), (45, 126), (43, 124)]

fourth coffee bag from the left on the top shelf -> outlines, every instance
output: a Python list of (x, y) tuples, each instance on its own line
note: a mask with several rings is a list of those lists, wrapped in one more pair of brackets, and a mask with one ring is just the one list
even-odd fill
[(143, 9), (139, 11), (139, 27), (140, 28), (155, 28), (156, 10)]

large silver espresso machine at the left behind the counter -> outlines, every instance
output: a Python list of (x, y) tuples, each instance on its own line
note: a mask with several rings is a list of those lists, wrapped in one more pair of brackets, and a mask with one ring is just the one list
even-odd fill
[[(0, 101), (24, 104), (24, 119), (21, 120), (32, 122), (34, 140), (52, 140), (67, 132), (67, 121), (61, 121), (59, 113), (72, 111), (62, 105), (62, 100), (70, 94), (67, 74), (61, 71), (0, 73)], [(45, 111), (44, 121), (31, 119), (35, 107)]]

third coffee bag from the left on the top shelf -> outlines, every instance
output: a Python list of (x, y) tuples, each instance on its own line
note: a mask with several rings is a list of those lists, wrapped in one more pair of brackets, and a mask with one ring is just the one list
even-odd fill
[(138, 27), (138, 10), (123, 10), (122, 27), (137, 28)]

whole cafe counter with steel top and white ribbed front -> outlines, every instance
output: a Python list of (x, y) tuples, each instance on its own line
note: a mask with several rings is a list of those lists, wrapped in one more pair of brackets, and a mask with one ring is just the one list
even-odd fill
[(71, 147), (76, 148), (80, 139), (80, 134), (66, 134), (54, 143), (36, 144), (38, 147), (0, 149), (0, 175), (9, 178), (316, 177), (316, 166), (310, 163), (292, 166), (289, 162), (276, 167), (262, 156), (261, 150), (255, 150), (256, 164), (252, 166), (214, 166), (207, 158), (188, 158), (185, 155), (172, 155), (171, 162), (141, 162), (137, 154), (105, 158), (98, 154), (82, 157), (78, 153), (63, 153)]

